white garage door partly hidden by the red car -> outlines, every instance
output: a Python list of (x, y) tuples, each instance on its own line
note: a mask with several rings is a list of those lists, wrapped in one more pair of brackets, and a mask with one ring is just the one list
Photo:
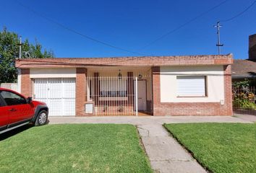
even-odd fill
[(75, 115), (75, 79), (34, 79), (35, 100), (46, 102), (49, 116)]

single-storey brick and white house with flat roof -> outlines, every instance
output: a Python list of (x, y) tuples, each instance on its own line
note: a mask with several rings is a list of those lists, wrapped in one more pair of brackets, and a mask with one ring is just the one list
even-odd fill
[(49, 116), (232, 115), (231, 54), (17, 59), (18, 89)]

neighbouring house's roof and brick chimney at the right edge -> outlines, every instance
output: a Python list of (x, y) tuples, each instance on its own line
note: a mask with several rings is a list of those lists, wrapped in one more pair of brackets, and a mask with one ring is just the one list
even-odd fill
[(256, 86), (256, 34), (249, 35), (249, 58), (234, 60), (232, 64), (232, 81), (248, 79)]

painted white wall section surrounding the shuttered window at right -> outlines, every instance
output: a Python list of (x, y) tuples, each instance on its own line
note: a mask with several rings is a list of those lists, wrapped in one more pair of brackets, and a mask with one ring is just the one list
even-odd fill
[[(223, 102), (223, 66), (166, 66), (160, 68), (161, 102)], [(208, 97), (177, 97), (176, 76), (207, 76)]]

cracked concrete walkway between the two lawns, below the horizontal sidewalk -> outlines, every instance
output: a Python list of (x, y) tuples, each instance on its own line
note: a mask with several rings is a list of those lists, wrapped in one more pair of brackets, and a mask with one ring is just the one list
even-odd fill
[(138, 125), (137, 128), (155, 172), (205, 172), (205, 169), (169, 135), (162, 125)]

